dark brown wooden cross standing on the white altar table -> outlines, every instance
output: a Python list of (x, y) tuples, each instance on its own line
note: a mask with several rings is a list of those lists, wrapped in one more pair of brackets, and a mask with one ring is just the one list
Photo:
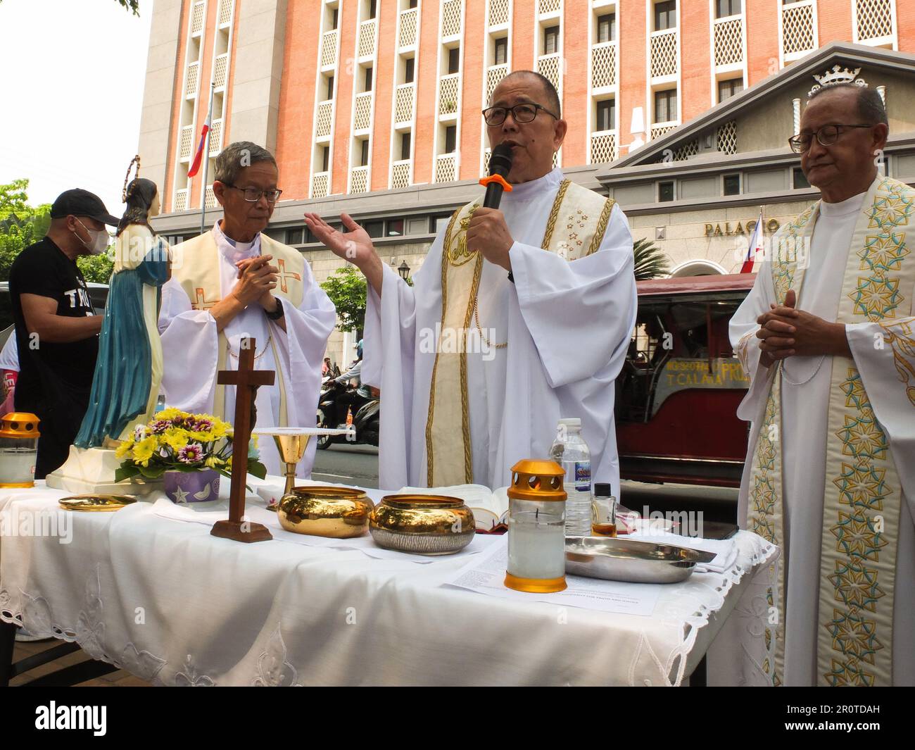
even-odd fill
[(221, 386), (235, 386), (235, 423), (232, 437), (231, 490), (229, 494), (229, 520), (217, 521), (210, 533), (242, 542), (272, 539), (263, 524), (242, 521), (244, 516), (244, 480), (248, 475), (248, 443), (251, 441), (251, 404), (257, 386), (273, 386), (273, 370), (254, 369), (253, 338), (245, 336), (241, 342), (237, 370), (221, 370), (216, 382)]

